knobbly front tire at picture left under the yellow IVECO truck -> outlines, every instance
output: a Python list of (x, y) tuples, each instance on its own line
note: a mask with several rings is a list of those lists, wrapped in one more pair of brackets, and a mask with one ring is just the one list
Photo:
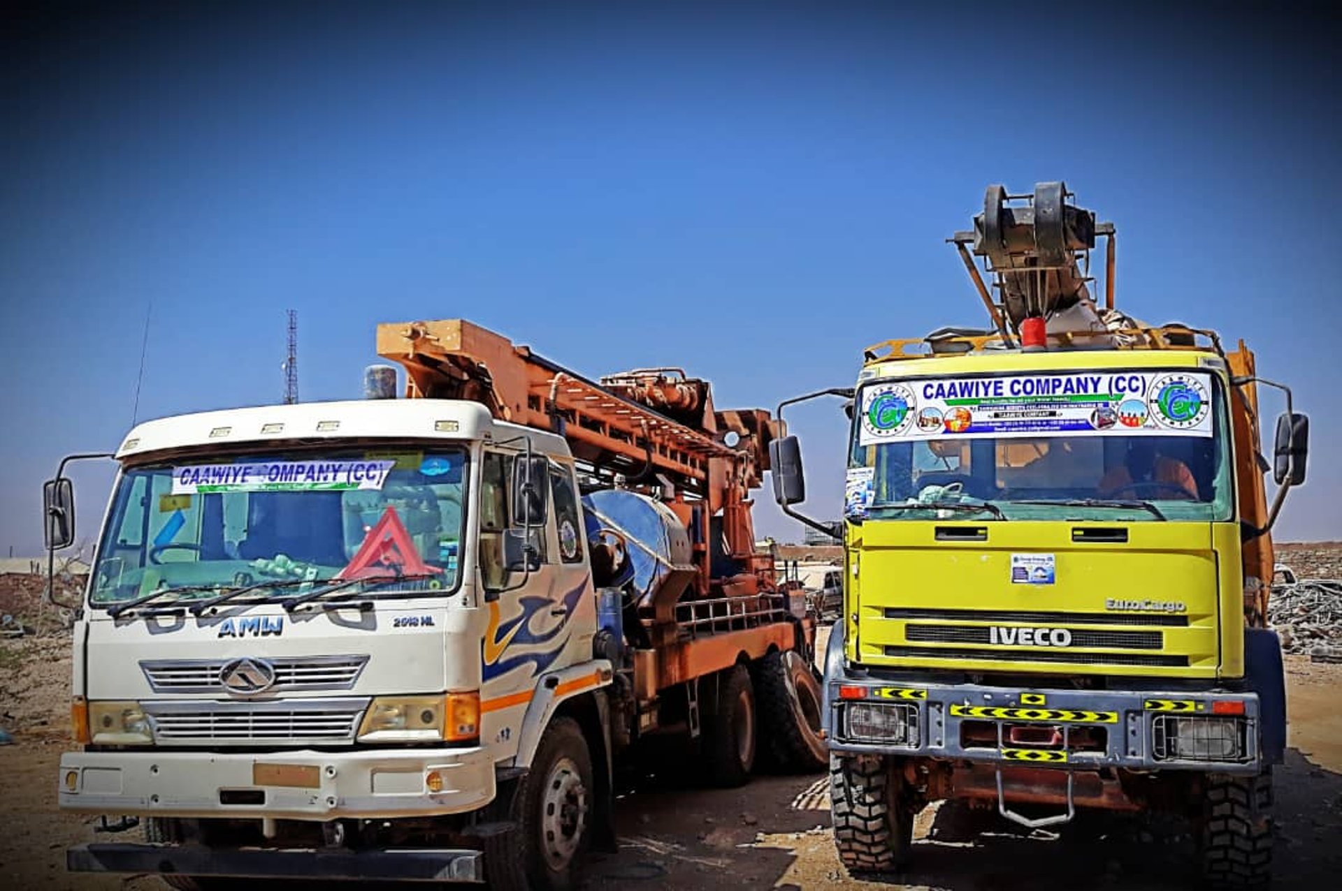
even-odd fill
[(894, 872), (909, 863), (914, 813), (903, 774), (880, 756), (829, 756), (829, 815), (849, 872)]

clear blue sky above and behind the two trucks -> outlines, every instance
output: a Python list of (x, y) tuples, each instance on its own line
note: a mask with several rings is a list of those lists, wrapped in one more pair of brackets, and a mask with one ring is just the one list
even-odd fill
[[(773, 406), (981, 324), (943, 238), (989, 182), (1057, 178), (1118, 225), (1121, 307), (1295, 387), (1314, 452), (1279, 537), (1342, 539), (1333, 13), (388, 5), (19, 13), (0, 556), (38, 551), (59, 457), (129, 427), (150, 304), (141, 419), (278, 401), (290, 307), (305, 401), (358, 395), (378, 322), (464, 316)], [(836, 516), (843, 414), (792, 417)], [(76, 476), (82, 535), (107, 478)]]

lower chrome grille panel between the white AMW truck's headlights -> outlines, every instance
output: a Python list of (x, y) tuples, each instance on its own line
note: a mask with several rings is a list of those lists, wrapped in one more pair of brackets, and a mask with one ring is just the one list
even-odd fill
[(353, 742), (369, 699), (146, 702), (156, 742), (274, 745)]

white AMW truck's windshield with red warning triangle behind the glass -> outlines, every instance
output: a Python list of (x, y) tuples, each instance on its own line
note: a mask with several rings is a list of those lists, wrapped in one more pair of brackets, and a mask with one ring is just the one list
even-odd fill
[(113, 606), (165, 588), (203, 599), (248, 587), (252, 596), (294, 596), (299, 586), (337, 577), (376, 579), (369, 590), (378, 595), (450, 592), (466, 469), (462, 449), (127, 469), (113, 493), (90, 600)]

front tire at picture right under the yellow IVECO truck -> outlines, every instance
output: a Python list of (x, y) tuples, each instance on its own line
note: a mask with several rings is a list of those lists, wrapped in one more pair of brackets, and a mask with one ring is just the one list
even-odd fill
[(1272, 878), (1272, 774), (1208, 777), (1202, 878), (1212, 888), (1264, 888)]

